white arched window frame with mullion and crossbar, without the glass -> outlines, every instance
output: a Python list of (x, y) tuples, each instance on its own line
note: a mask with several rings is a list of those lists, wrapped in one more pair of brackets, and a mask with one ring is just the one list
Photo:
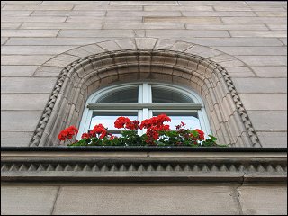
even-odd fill
[[(103, 94), (108, 94), (111, 91), (115, 91), (117, 89), (122, 89), (126, 87), (138, 86), (139, 87), (139, 103), (96, 103), (99, 98), (103, 96)], [(152, 86), (170, 88), (179, 92), (181, 94), (185, 94), (190, 97), (195, 104), (192, 103), (152, 103), (151, 98), (151, 89)], [(210, 124), (207, 118), (207, 114), (204, 109), (204, 103), (202, 102), (202, 98), (193, 92), (191, 89), (185, 88), (183, 86), (171, 85), (171, 84), (162, 84), (155, 82), (137, 82), (137, 83), (129, 83), (129, 84), (120, 84), (120, 85), (112, 85), (105, 87), (103, 89), (98, 90), (94, 94), (91, 94), (86, 103), (85, 109), (82, 115), (82, 119), (80, 121), (79, 132), (77, 134), (76, 139), (81, 139), (83, 133), (87, 132), (90, 127), (90, 123), (92, 121), (93, 112), (97, 110), (99, 112), (121, 112), (124, 116), (125, 112), (138, 112), (139, 121), (148, 119), (152, 117), (153, 112), (197, 112), (198, 119), (200, 121), (201, 130), (204, 131), (205, 136), (211, 134)], [(101, 122), (99, 122), (101, 123)], [(103, 122), (102, 122), (103, 123)], [(104, 125), (105, 126), (105, 125)], [(143, 131), (139, 131), (139, 134), (142, 134)]]

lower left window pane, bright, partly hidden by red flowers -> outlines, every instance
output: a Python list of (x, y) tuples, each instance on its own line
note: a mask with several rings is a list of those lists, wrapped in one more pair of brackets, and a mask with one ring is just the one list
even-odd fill
[(108, 130), (121, 131), (114, 127), (114, 122), (120, 116), (128, 117), (130, 120), (138, 120), (137, 112), (94, 112), (89, 130), (93, 130), (96, 124), (103, 124)]

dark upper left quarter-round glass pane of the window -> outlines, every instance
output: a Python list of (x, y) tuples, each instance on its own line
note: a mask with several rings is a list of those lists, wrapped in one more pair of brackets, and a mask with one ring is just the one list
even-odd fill
[(111, 91), (101, 96), (96, 103), (138, 103), (138, 86)]

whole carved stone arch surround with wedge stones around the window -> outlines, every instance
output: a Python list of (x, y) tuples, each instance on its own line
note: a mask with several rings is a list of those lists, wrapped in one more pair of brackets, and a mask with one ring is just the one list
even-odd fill
[(231, 64), (244, 65), (216, 49), (179, 40), (109, 40), (69, 50), (40, 67), (61, 71), (30, 146), (57, 145), (58, 132), (78, 126), (86, 98), (97, 89), (120, 82), (162, 80), (185, 85), (202, 96), (211, 130), (220, 143), (261, 147), (223, 67)]

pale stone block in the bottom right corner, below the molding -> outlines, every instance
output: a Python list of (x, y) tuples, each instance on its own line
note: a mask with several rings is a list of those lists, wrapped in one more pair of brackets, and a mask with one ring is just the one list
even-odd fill
[(287, 214), (286, 186), (242, 186), (238, 188), (243, 214)]

